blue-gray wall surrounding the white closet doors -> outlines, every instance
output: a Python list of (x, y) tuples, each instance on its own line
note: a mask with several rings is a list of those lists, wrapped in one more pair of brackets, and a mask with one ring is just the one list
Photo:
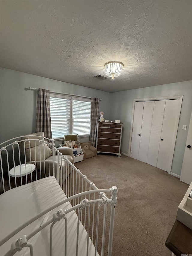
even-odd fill
[[(113, 120), (120, 120), (123, 123), (121, 151), (126, 154), (129, 146), (133, 100), (174, 95), (183, 95), (179, 128), (171, 169), (171, 172), (180, 175), (192, 110), (192, 81), (112, 93), (111, 102), (113, 102), (113, 104), (111, 107), (113, 107), (113, 112), (111, 112), (110, 118)], [(187, 125), (187, 130), (182, 130), (183, 125)]]

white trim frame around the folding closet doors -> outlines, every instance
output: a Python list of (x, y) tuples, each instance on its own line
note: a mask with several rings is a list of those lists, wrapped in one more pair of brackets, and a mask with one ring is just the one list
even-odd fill
[[(131, 131), (130, 131), (130, 137), (129, 137), (129, 148), (128, 148), (128, 156), (129, 157), (130, 157), (130, 152), (131, 152), (131, 140), (132, 140), (132, 133), (133, 133), (133, 120), (134, 120), (135, 102), (136, 101), (161, 101), (161, 100), (179, 100), (179, 107), (178, 107), (178, 113), (177, 113), (177, 119), (176, 119), (176, 127), (177, 127), (177, 129), (175, 129), (174, 136), (173, 136), (173, 139), (176, 141), (178, 126), (179, 126), (179, 118), (180, 118), (180, 113), (181, 113), (182, 100), (183, 100), (183, 95), (134, 99), (133, 100), (132, 118), (131, 118)], [(174, 149), (175, 149), (175, 146), (172, 149), (171, 155), (174, 154)], [(170, 174), (171, 170), (168, 173)]]

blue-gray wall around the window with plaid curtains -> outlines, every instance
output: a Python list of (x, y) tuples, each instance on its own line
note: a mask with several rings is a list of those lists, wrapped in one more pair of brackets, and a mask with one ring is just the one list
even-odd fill
[[(0, 68), (0, 143), (35, 132), (37, 92), (29, 90), (29, 86), (100, 98), (100, 111), (110, 116), (109, 92)], [(55, 145), (59, 143), (62, 141), (55, 142)]]

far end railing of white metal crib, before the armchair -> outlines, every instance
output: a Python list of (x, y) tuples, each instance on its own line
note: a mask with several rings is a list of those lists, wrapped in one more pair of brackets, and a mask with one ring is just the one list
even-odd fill
[(54, 140), (41, 136), (30, 136), (30, 140), (23, 138), (0, 144), (0, 193), (54, 175)]

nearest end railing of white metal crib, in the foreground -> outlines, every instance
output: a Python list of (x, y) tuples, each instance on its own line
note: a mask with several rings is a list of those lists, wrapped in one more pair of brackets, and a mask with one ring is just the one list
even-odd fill
[[(42, 217), (43, 215), (47, 214), (48, 212), (50, 212), (52, 209), (55, 209), (56, 207), (59, 207), (60, 205), (67, 203), (68, 201), (72, 201), (73, 199), (79, 198), (79, 197), (84, 197), (84, 196), (88, 196), (91, 194), (95, 194), (95, 193), (100, 193), (100, 194), (104, 194), (105, 193), (111, 193), (111, 198), (110, 199), (106, 199), (106, 197), (102, 197), (100, 199), (95, 199), (95, 200), (88, 200), (87, 198), (81, 200), (77, 205), (70, 207), (68, 209), (59, 209), (58, 211), (56, 211), (55, 213), (53, 213), (52, 218), (50, 218), (49, 220), (45, 221), (44, 223), (41, 224), (40, 227), (37, 227), (35, 230), (33, 230), (31, 233), (29, 233), (28, 235), (24, 234), (23, 236), (19, 237), (18, 239), (16, 239), (15, 241), (12, 242), (11, 246), (10, 246), (10, 250), (7, 251), (7, 253), (5, 254), (5, 256), (11, 256), (14, 255), (17, 251), (21, 251), (22, 248), (24, 247), (29, 247), (30, 249), (30, 255), (33, 256), (33, 245), (32, 243), (28, 242), (29, 239), (31, 239), (33, 236), (35, 236), (35, 234), (37, 234), (38, 232), (40, 232), (41, 230), (43, 230), (45, 227), (47, 227), (48, 225), (50, 225), (49, 227), (49, 242), (47, 241), (47, 244), (49, 243), (49, 255), (52, 256), (52, 229), (53, 226), (55, 225), (56, 222), (60, 221), (61, 219), (65, 220), (65, 225), (64, 225), (64, 233), (65, 233), (65, 241), (64, 241), (64, 250), (63, 250), (63, 254), (67, 256), (67, 214), (69, 212), (72, 212), (73, 210), (77, 210), (78, 209), (78, 218), (77, 218), (77, 223), (76, 223), (76, 256), (78, 256), (78, 244), (79, 244), (79, 224), (80, 224), (80, 215), (82, 213), (82, 211), (86, 208), (88, 208), (88, 218), (87, 218), (87, 242), (86, 242), (86, 255), (89, 255), (89, 229), (90, 229), (90, 216), (91, 216), (91, 205), (95, 205), (98, 204), (98, 210), (97, 210), (97, 224), (96, 224), (96, 237), (95, 237), (95, 255), (97, 253), (97, 249), (98, 249), (98, 226), (99, 226), (99, 215), (100, 215), (100, 209), (103, 207), (104, 208), (104, 216), (103, 216), (103, 226), (104, 226), (104, 232), (102, 233), (102, 248), (101, 248), (101, 256), (104, 255), (104, 247), (105, 247), (105, 228), (106, 228), (106, 219), (107, 219), (107, 203), (109, 203), (112, 207), (112, 209), (114, 209), (115, 205), (116, 205), (116, 194), (117, 194), (117, 188), (116, 187), (112, 187), (110, 189), (96, 189), (96, 190), (90, 190), (90, 191), (84, 191), (81, 192), (79, 194), (73, 195), (67, 199), (61, 200), (58, 203), (55, 203), (54, 205), (50, 206), (48, 209), (44, 210), (43, 212), (39, 213), (38, 215), (36, 215), (35, 217), (33, 217), (31, 220), (27, 221), (26, 223), (22, 224), (22, 226), (18, 227), (16, 230), (13, 230), (12, 233), (10, 233), (8, 236), (6, 236), (4, 239), (2, 239), (0, 241), (0, 246), (3, 245), (5, 242), (7, 242), (11, 237), (13, 237), (14, 235), (16, 235), (19, 231), (21, 231), (23, 228), (25, 228), (26, 226), (28, 226), (29, 224), (31, 224), (32, 222), (34, 222), (35, 220), (37, 220), (38, 218)], [(109, 245), (108, 245), (108, 256), (111, 255), (111, 251), (112, 251), (112, 240), (113, 240), (113, 221), (114, 221), (114, 213), (115, 210), (111, 211), (111, 218), (110, 218), (110, 239), (109, 239)], [(62, 222), (60, 222), (61, 225), (63, 225)], [(93, 240), (92, 240), (93, 241)]]

